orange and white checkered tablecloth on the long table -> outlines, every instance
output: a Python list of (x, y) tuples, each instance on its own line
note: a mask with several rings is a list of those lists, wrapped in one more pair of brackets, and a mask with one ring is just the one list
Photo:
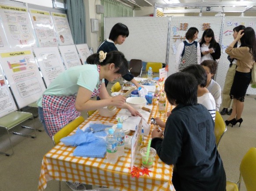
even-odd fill
[[(170, 111), (171, 106), (166, 101), (166, 110)], [(159, 114), (158, 105), (153, 105), (151, 117), (160, 117), (166, 120), (166, 114)], [(150, 118), (148, 123), (150, 123)], [(116, 123), (115, 116), (106, 118), (95, 111), (90, 118), (87, 118), (79, 127), (83, 127), (90, 121), (105, 121)], [(151, 125), (151, 129), (154, 125)], [(71, 134), (76, 132), (73, 131)], [(148, 137), (144, 137), (145, 142), (151, 138), (151, 131)], [(130, 171), (131, 152), (125, 149), (125, 156), (119, 157), (115, 164), (106, 163), (105, 158), (90, 158), (73, 156), (71, 146), (65, 146), (62, 142), (54, 146), (45, 154), (42, 161), (38, 190), (43, 191), (47, 186), (47, 181), (69, 181), (84, 184), (116, 188), (120, 191), (173, 191), (172, 174), (173, 166), (163, 163), (156, 156), (155, 164), (149, 170), (149, 176), (142, 175), (139, 178), (132, 177)]]

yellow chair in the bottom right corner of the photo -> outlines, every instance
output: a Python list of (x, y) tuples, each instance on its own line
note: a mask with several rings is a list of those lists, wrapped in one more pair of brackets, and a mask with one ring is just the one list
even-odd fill
[[(227, 181), (227, 191), (240, 190), (241, 180), (243, 178), (247, 191), (256, 190), (256, 148), (252, 147), (243, 157), (240, 163), (240, 176), (238, 182)], [(238, 184), (238, 187), (237, 187)]]

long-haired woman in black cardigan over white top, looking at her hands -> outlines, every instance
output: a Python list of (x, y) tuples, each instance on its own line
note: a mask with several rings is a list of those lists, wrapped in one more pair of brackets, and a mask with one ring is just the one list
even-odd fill
[(201, 63), (204, 60), (220, 59), (220, 44), (216, 42), (211, 28), (207, 28), (203, 32), (202, 39), (199, 44), (201, 49)]

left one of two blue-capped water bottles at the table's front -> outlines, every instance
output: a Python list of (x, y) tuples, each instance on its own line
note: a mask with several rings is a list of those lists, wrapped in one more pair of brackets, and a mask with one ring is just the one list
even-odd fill
[(106, 138), (107, 154), (106, 160), (108, 163), (115, 164), (118, 158), (117, 155), (117, 139), (114, 134), (114, 129), (108, 129), (108, 136)]

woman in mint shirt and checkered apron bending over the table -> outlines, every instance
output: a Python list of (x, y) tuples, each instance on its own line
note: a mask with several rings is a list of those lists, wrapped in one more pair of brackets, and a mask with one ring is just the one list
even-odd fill
[[(86, 65), (74, 66), (59, 74), (37, 101), (39, 118), (47, 134), (52, 137), (76, 117), (80, 111), (90, 111), (114, 105), (141, 116), (123, 96), (110, 97), (104, 79), (113, 81), (128, 71), (128, 62), (122, 52), (93, 54)], [(98, 95), (102, 100), (90, 100)], [(104, 99), (104, 100), (103, 100)]]

